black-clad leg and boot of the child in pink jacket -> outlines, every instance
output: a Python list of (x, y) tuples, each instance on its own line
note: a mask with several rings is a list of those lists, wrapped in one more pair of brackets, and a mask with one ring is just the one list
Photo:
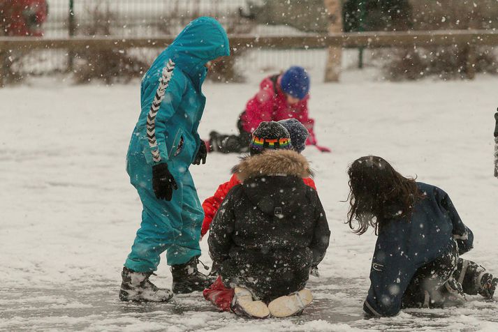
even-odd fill
[(244, 153), (249, 151), (251, 133), (247, 133), (242, 127), (242, 120), (240, 119), (242, 114), (240, 114), (239, 119), (237, 120), (239, 135), (225, 135), (215, 131), (210, 133), (211, 151), (218, 151), (221, 153)]

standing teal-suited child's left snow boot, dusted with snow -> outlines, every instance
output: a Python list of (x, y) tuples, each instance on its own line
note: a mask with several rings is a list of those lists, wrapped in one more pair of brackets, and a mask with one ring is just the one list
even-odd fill
[(123, 281), (119, 290), (121, 301), (150, 301), (165, 302), (173, 297), (169, 289), (161, 289), (150, 282), (152, 272), (135, 272), (123, 267), (121, 276)]

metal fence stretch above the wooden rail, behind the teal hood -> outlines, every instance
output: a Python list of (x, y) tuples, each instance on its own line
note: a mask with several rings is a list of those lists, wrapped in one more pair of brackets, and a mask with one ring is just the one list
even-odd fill
[(194, 17), (203, 15), (216, 17), (228, 33), (249, 33), (254, 28), (254, 24), (240, 15), (240, 10), (249, 6), (246, 0), (48, 0), (47, 3), (49, 16), (44, 24), (47, 37), (175, 35)]

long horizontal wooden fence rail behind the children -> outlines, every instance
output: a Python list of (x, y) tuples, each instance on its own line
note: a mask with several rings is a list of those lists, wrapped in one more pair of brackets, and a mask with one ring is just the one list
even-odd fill
[[(0, 37), (0, 51), (65, 49), (101, 50), (109, 48), (166, 47), (172, 36), (153, 38), (119, 38), (105, 36), (71, 38)], [(498, 45), (498, 31), (396, 31), (330, 33), (307, 36), (230, 36), (230, 47), (265, 47), (274, 49), (342, 47), (407, 47), (441, 45)]]

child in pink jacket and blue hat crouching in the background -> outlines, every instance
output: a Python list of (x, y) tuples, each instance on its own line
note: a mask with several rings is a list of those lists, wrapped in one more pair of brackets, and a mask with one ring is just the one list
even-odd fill
[(314, 119), (309, 117), (309, 74), (299, 66), (288, 68), (285, 73), (266, 77), (260, 84), (260, 91), (247, 102), (246, 109), (237, 121), (239, 135), (210, 133), (209, 151), (222, 153), (247, 152), (251, 134), (263, 121), (280, 121), (294, 118), (309, 132), (307, 145), (314, 145), (322, 152), (330, 152), (318, 146), (314, 133)]

